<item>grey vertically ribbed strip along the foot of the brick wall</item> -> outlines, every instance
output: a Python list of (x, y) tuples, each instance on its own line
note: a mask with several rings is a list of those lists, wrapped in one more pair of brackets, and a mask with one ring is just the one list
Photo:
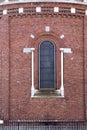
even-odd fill
[(0, 130), (87, 130), (86, 121), (66, 120), (9, 120)]

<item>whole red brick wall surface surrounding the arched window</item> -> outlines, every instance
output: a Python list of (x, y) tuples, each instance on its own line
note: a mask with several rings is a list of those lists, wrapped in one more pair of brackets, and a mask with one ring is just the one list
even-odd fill
[[(9, 5), (6, 8), (28, 7), (30, 4)], [(51, 3), (47, 5), (53, 6)], [(32, 4), (33, 6), (35, 4)], [(46, 4), (43, 3), (41, 6)], [(60, 7), (72, 6), (76, 7), (76, 5), (60, 5)], [(77, 5), (77, 8), (80, 9), (80, 6)], [(81, 8), (85, 11), (85, 6)], [(0, 117), (2, 119), (85, 119), (87, 115), (85, 115), (86, 19), (85, 14), (67, 14), (67, 11), (60, 15), (48, 13), (2, 16), (0, 19)], [(49, 33), (45, 32), (46, 26), (50, 26)], [(31, 34), (35, 39), (30, 37)], [(65, 36), (64, 39), (60, 39), (62, 34)], [(31, 98), (31, 54), (24, 54), (23, 48), (35, 47), (35, 88), (38, 88), (38, 45), (44, 39), (55, 42), (57, 65), (60, 61), (59, 48), (72, 49), (72, 54), (64, 54), (64, 98)], [(57, 88), (60, 88), (60, 69), (58, 68), (57, 71)]]

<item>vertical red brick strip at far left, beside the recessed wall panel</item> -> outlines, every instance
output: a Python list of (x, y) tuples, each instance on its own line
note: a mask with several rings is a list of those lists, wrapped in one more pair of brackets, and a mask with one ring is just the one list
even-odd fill
[(9, 26), (8, 17), (0, 19), (0, 118), (9, 116)]

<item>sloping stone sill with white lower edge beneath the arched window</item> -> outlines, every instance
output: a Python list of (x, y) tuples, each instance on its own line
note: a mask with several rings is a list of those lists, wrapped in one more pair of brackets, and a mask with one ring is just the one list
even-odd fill
[(60, 90), (35, 90), (31, 98), (64, 98), (61, 96)]

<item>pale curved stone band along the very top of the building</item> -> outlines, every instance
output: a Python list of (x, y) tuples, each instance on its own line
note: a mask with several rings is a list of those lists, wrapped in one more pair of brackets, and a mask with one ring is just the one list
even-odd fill
[(8, 2), (1, 2), (0, 6), (2, 5), (9, 5), (9, 4), (16, 4), (16, 3), (30, 3), (30, 2), (58, 2), (58, 3), (70, 3), (70, 4), (80, 4), (80, 5), (87, 5), (87, 2), (79, 2), (79, 1), (69, 1), (69, 0), (14, 0)]

